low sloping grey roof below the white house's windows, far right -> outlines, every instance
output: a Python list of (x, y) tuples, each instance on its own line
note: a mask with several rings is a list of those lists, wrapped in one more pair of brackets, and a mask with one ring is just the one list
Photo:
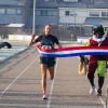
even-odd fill
[(104, 25), (108, 27), (107, 17), (86, 17), (84, 26)]

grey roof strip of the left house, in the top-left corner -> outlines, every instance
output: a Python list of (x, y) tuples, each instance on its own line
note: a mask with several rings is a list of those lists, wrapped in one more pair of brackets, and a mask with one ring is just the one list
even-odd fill
[(26, 0), (0, 0), (1, 5), (24, 5)]

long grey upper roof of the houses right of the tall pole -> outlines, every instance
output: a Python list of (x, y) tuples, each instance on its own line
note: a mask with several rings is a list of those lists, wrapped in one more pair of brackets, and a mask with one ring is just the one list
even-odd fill
[[(31, 5), (33, 6), (33, 5)], [(80, 0), (78, 2), (55, 2), (55, 1), (37, 1), (38, 9), (52, 8), (87, 8), (87, 9), (108, 9), (108, 3), (105, 0)]]

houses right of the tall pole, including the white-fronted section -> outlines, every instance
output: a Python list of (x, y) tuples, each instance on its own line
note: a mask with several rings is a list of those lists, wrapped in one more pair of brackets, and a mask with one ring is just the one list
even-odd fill
[[(36, 24), (108, 26), (108, 0), (36, 0)], [(105, 22), (104, 22), (105, 19)], [(98, 22), (99, 21), (99, 22)]]

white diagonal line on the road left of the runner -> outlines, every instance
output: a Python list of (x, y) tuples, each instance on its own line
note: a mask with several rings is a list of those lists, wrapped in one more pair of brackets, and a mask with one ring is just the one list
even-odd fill
[(31, 62), (13, 81), (12, 81), (12, 83), (10, 83), (10, 85), (9, 86), (6, 86), (5, 87), (5, 90), (0, 94), (0, 97), (10, 89), (10, 86), (37, 60), (37, 58), (38, 58), (39, 56), (37, 56), (36, 58), (35, 58), (35, 60), (33, 62)]

